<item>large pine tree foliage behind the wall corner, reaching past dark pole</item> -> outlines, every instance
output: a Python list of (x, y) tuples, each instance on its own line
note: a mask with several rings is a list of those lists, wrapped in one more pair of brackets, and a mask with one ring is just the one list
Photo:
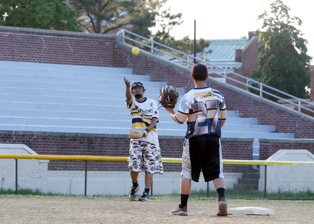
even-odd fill
[[(130, 31), (160, 44), (167, 45), (187, 54), (193, 51), (193, 40), (185, 37), (175, 40), (170, 31), (180, 25), (181, 13), (171, 14), (164, 7), (168, 0), (71, 0), (70, 4), (80, 13), (80, 24), (87, 32), (106, 34), (129, 27)], [(145, 40), (143, 43), (150, 45)], [(210, 41), (197, 41), (197, 52), (208, 47)], [(163, 48), (163, 51), (168, 51)], [(171, 52), (174, 54), (173, 52)]]

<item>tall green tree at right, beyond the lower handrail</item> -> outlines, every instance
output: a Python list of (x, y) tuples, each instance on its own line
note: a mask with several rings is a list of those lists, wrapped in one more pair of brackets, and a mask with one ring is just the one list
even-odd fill
[[(308, 65), (312, 58), (306, 54), (307, 41), (295, 28), (295, 25), (301, 26), (302, 21), (298, 17), (290, 17), (289, 11), (290, 8), (281, 0), (275, 0), (270, 4), (270, 12), (265, 10), (258, 16), (264, 21), (261, 29), (257, 30), (259, 67), (252, 71), (250, 77), (295, 97), (309, 98), (306, 88), (310, 84)], [(264, 90), (287, 98), (270, 89)], [(263, 96), (267, 97), (265, 94)]]

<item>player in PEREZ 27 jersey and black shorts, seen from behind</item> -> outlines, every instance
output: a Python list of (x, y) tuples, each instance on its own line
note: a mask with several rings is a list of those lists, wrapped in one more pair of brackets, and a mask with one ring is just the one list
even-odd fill
[(223, 95), (206, 85), (208, 77), (207, 66), (195, 64), (191, 74), (195, 88), (183, 96), (177, 112), (173, 108), (165, 108), (175, 122), (183, 124), (186, 121), (188, 126), (182, 154), (181, 203), (170, 211), (174, 215), (188, 215), (191, 180), (198, 182), (201, 170), (205, 182), (212, 180), (217, 191), (217, 215), (228, 215), (220, 142), (221, 128), (226, 120), (226, 105)]

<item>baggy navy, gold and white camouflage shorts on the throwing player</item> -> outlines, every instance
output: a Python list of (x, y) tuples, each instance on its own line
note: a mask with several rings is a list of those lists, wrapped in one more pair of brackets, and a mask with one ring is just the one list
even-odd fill
[(129, 170), (163, 174), (160, 147), (147, 141), (131, 141)]

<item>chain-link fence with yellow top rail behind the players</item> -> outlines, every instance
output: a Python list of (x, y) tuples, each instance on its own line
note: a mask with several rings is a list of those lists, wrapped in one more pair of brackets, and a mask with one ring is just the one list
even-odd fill
[[(6, 156), (0, 155), (1, 194), (126, 196), (132, 186), (127, 157), (102, 157), (101, 161), (97, 160), (100, 157), (92, 156), (84, 160), (75, 156), (61, 156), (60, 160), (42, 155), (31, 155), (33, 159), (27, 158), (30, 155)], [(46, 157), (49, 160), (40, 159)], [(164, 160), (164, 174), (153, 176), (150, 194), (179, 197), (180, 159)], [(223, 163), (227, 198), (314, 199), (314, 162), (223, 160)], [(140, 173), (138, 179), (143, 190), (144, 176)], [(205, 182), (201, 174), (198, 183), (192, 181), (190, 197), (217, 197), (217, 193), (212, 181)]]

